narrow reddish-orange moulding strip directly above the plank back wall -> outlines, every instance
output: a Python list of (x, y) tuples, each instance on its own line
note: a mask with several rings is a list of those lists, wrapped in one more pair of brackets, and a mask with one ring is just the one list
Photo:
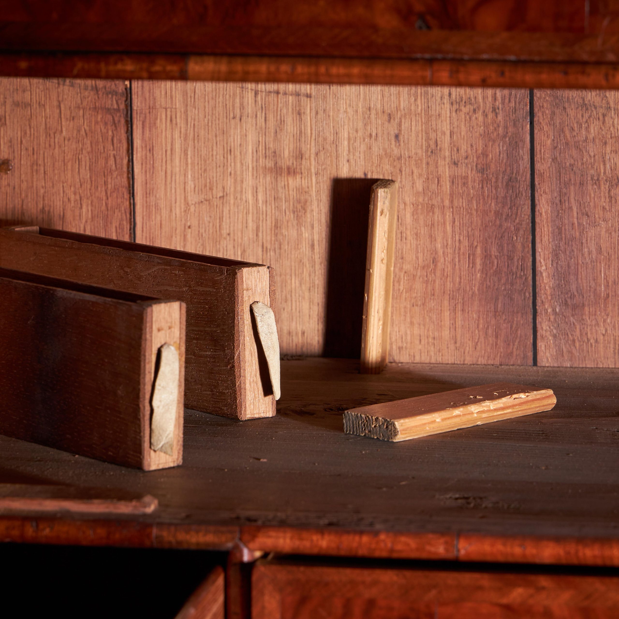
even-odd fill
[(0, 76), (617, 89), (619, 63), (3, 52)]

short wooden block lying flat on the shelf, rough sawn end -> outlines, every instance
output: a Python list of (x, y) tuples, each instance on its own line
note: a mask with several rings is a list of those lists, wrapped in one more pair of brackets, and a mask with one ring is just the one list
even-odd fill
[(347, 410), (344, 431), (405, 441), (539, 413), (555, 404), (552, 389), (495, 383)]

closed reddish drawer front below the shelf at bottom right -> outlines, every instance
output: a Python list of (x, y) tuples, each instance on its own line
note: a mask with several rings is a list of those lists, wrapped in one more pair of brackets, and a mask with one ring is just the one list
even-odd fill
[(254, 619), (610, 619), (619, 612), (616, 574), (507, 574), (259, 561), (252, 587)]

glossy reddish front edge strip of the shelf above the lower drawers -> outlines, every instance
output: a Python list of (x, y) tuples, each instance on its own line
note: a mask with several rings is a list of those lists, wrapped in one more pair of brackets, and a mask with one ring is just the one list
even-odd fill
[(0, 517), (0, 542), (227, 551), (240, 546), (248, 551), (248, 561), (265, 553), (279, 553), (619, 567), (619, 538), (595, 537), (373, 532), (5, 516)]

